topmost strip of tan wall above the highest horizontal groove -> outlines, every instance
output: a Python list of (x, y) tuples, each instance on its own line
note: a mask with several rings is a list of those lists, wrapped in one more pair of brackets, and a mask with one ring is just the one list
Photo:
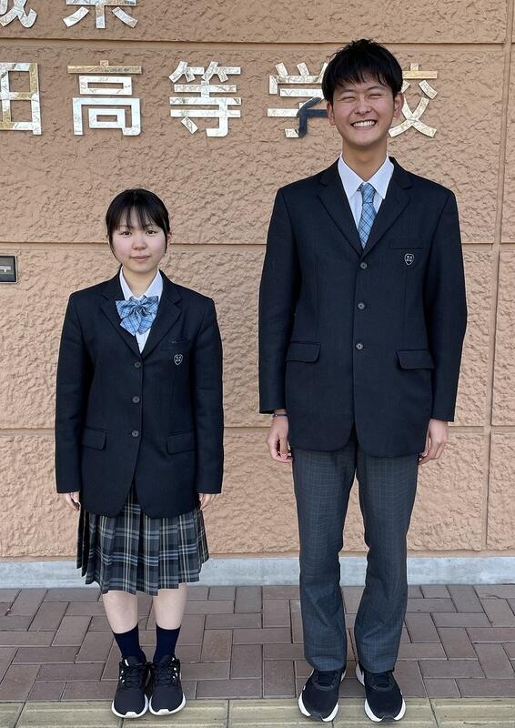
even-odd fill
[[(10, 2), (9, 5), (12, 3)], [(380, 37), (398, 43), (502, 43), (507, 33), (507, 0), (369, 0), (367, 16), (356, 0), (328, 3), (311, 0), (138, 0), (129, 14), (137, 19), (137, 32), (107, 14), (106, 29), (98, 35), (91, 15), (73, 28), (62, 18), (76, 8), (66, 8), (65, 0), (27, 0), (27, 7), (40, 12), (37, 23), (23, 32), (38, 40), (73, 39), (142, 41), (146, 43), (258, 43), (338, 45), (354, 37)], [(15, 23), (2, 30), (2, 38), (19, 38)]]

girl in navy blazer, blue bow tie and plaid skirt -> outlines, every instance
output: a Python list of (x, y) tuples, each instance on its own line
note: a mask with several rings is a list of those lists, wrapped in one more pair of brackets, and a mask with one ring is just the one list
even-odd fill
[[(77, 566), (99, 584), (122, 655), (112, 710), (132, 718), (186, 703), (175, 650), (186, 582), (208, 558), (202, 511), (221, 490), (222, 349), (211, 298), (158, 268), (170, 239), (159, 197), (122, 192), (106, 228), (120, 268), (66, 309), (56, 484), (80, 509)], [(151, 663), (136, 591), (154, 597)]]

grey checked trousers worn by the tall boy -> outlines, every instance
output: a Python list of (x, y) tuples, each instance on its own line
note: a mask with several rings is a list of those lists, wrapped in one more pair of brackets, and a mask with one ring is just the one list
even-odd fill
[(355, 474), (369, 547), (354, 627), (358, 660), (370, 672), (393, 669), (408, 600), (406, 537), (418, 470), (418, 455), (371, 457), (354, 433), (342, 450), (293, 449), (304, 650), (317, 670), (347, 661), (338, 551)]

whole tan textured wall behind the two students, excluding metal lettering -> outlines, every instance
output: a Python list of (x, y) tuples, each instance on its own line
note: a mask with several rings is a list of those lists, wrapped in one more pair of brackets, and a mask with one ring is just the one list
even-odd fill
[[(9, 2), (9, 5), (12, 5)], [(419, 554), (515, 554), (515, 54), (514, 0), (328, 0), (260, 4), (138, 0), (135, 28), (106, 12), (66, 28), (76, 7), (29, 0), (31, 28), (0, 27), (0, 62), (36, 61), (42, 136), (0, 131), (0, 255), (15, 254), (17, 284), (0, 285), (0, 558), (74, 554), (76, 517), (56, 496), (53, 417), (56, 359), (66, 299), (116, 272), (103, 216), (126, 187), (148, 187), (171, 212), (173, 245), (163, 268), (212, 296), (225, 347), (227, 468), (224, 494), (207, 511), (210, 550), (294, 554), (298, 532), (288, 467), (268, 458), (268, 417), (258, 414), (258, 280), (276, 189), (328, 166), (339, 137), (326, 119), (287, 139), (294, 119), (268, 76), (284, 63), (316, 73), (354, 37), (383, 42), (404, 69), (438, 71), (438, 96), (414, 128), (390, 140), (404, 167), (458, 197), (470, 307), (456, 422), (439, 462), (421, 469), (409, 548)], [(126, 8), (127, 9), (127, 8)], [(366, 12), (365, 12), (366, 11)], [(142, 66), (140, 136), (85, 129), (74, 136), (77, 76), (68, 65)], [(241, 66), (242, 97), (228, 136), (191, 135), (169, 116), (167, 78), (180, 60)], [(418, 103), (418, 86), (409, 103)], [(286, 105), (285, 105), (286, 106)], [(15, 109), (15, 105), (14, 105)], [(20, 107), (21, 109), (21, 107)], [(22, 114), (15, 110), (15, 114)], [(363, 552), (354, 489), (346, 550)]]

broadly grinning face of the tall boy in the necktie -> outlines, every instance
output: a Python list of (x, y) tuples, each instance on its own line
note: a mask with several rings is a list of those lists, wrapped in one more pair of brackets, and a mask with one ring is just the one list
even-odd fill
[(344, 83), (328, 103), (328, 118), (336, 126), (343, 141), (343, 150), (384, 151), (393, 119), (400, 116), (403, 96), (393, 96), (391, 88), (377, 78)]

